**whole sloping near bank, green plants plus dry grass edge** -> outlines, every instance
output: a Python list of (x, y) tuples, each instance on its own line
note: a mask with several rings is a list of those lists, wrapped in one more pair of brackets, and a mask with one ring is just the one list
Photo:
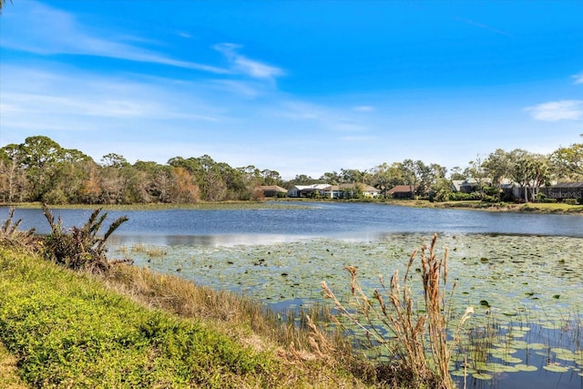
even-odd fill
[(212, 293), (200, 304), (196, 293), (210, 291), (125, 265), (94, 276), (0, 249), (0, 342), (8, 351), (0, 348), (0, 384), (370, 386), (332, 357), (332, 343), (304, 350), (297, 337), (283, 347), (261, 310)]

